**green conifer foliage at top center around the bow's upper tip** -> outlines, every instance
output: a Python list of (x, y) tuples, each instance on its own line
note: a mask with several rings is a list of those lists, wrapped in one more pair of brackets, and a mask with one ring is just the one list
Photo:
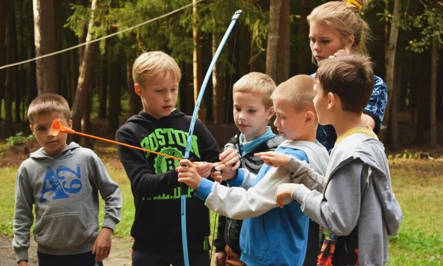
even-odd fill
[[(142, 1), (100, 1), (95, 11), (94, 38), (121, 31), (149, 19), (171, 12), (190, 3), (189, 0), (142, 0)], [(84, 36), (90, 17), (90, 7), (71, 5), (74, 13), (67, 19), (65, 27), (72, 29), (77, 36)], [(197, 4), (196, 25), (208, 38), (209, 34), (221, 39), (230, 19), (238, 9), (243, 10), (240, 23), (248, 26), (252, 33), (251, 48), (254, 53), (262, 53), (263, 41), (268, 30), (269, 11), (263, 11), (253, 0), (216, 0)], [(173, 15), (147, 23), (132, 31), (120, 34), (119, 41), (105, 46), (100, 42), (100, 51), (107, 56), (117, 56), (121, 49), (127, 58), (134, 58), (139, 53), (163, 50), (174, 57), (178, 63), (192, 63), (193, 12), (192, 7)], [(232, 36), (231, 36), (232, 37)], [(109, 41), (109, 40), (108, 40)], [(108, 51), (105, 51), (105, 50)], [(225, 75), (230, 66), (231, 55), (224, 49), (220, 56), (221, 74)]]

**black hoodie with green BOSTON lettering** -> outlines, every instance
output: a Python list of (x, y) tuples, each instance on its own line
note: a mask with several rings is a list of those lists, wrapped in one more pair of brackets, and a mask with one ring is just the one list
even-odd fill
[[(117, 141), (183, 158), (191, 116), (174, 109), (155, 119), (142, 111), (131, 116), (115, 134)], [(131, 181), (135, 219), (131, 228), (134, 250), (181, 249), (180, 184), (178, 161), (144, 151), (118, 146), (120, 160)], [(220, 149), (214, 137), (197, 119), (190, 157), (195, 161), (218, 160)], [(186, 196), (186, 226), (190, 249), (202, 249), (209, 235), (209, 214), (204, 202), (189, 189)], [(207, 238), (206, 238), (207, 239)]]

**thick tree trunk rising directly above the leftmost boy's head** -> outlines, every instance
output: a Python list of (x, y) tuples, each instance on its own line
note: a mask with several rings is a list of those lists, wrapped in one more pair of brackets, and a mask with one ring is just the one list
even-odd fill
[[(33, 0), (35, 54), (41, 56), (55, 51), (53, 0)], [(45, 57), (36, 61), (38, 94), (58, 93), (57, 58)]]

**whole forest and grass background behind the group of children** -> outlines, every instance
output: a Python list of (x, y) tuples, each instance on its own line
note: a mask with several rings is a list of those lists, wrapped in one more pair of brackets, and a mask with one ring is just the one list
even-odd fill
[[(250, 71), (265, 72), (277, 84), (297, 74), (315, 72), (306, 16), (324, 2), (327, 1), (0, 0), (3, 262), (10, 259), (13, 263), (15, 258), (10, 243), (17, 167), (29, 152), (39, 148), (27, 119), (27, 108), (35, 96), (44, 92), (63, 95), (72, 107), (76, 131), (113, 139), (116, 129), (142, 109), (133, 90), (132, 63), (143, 52), (161, 50), (172, 55), (181, 68), (177, 107), (191, 115), (204, 74), (232, 14), (242, 9), (237, 28), (213, 70), (199, 112), (199, 118), (222, 145), (226, 135), (236, 132), (232, 100), (228, 99), (232, 83)], [(368, 2), (362, 16), (372, 31), (369, 54), (375, 63), (375, 74), (387, 84), (389, 100), (379, 137), (387, 150), (393, 190), (404, 213), (399, 236), (390, 238), (389, 265), (441, 265), (443, 198), (438, 195), (443, 189), (443, 3)], [(5, 67), (127, 30), (186, 5), (124, 33)], [(123, 254), (120, 259), (130, 264), (129, 231), (134, 209), (130, 183), (116, 148), (105, 142), (77, 139), (76, 135), (70, 137), (93, 148), (121, 186), (125, 205), (114, 235), (125, 239), (127, 245), (120, 253), (113, 249), (111, 257)], [(32, 256), (35, 262), (35, 254)]]

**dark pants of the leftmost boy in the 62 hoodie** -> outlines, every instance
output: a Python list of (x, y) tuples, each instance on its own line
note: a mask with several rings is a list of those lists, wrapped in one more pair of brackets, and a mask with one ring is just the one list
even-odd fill
[(97, 262), (96, 254), (92, 251), (75, 255), (50, 255), (37, 252), (38, 266), (103, 266), (103, 262)]

